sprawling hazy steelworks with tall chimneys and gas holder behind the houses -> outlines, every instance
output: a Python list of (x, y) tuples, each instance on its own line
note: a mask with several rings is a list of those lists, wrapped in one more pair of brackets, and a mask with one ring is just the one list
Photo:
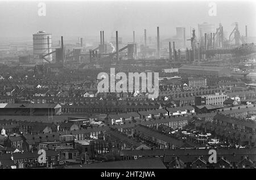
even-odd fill
[[(86, 46), (84, 38), (78, 42), (65, 45), (64, 37), (59, 37), (59, 46), (52, 46), (51, 34), (39, 31), (33, 35), (33, 59), (38, 68), (63, 68), (64, 66), (106, 68), (133, 67), (180, 67), (181, 65), (204, 65), (238, 67), (245, 65), (242, 58), (255, 53), (255, 45), (240, 34), (238, 23), (232, 32), (224, 33), (224, 27), (218, 24), (202, 23), (196, 29), (176, 27), (176, 36), (169, 39), (160, 38), (160, 27), (156, 27), (156, 41), (144, 33), (143, 43), (135, 40), (135, 31), (131, 31), (130, 42), (123, 42), (122, 32), (115, 31), (115, 37), (107, 37), (100, 31), (98, 45)], [(189, 31), (191, 30), (191, 31)], [(198, 32), (196, 32), (198, 31)], [(51, 64), (51, 65), (47, 65)], [(43, 67), (40, 69), (43, 70)], [(48, 71), (51, 71), (49, 70)]]

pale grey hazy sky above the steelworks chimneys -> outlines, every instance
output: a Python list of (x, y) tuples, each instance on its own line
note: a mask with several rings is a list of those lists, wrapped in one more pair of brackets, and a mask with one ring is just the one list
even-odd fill
[[(46, 16), (38, 15), (38, 3), (46, 3)], [(160, 36), (173, 36), (175, 27), (190, 27), (208, 22), (218, 27), (222, 23), (224, 31), (229, 33), (238, 22), (240, 33), (256, 36), (256, 11), (254, 1), (1, 1), (0, 0), (0, 41), (6, 37), (31, 37), (32, 33), (44, 30), (52, 36), (99, 36), (101, 30), (105, 37), (143, 35), (156, 36), (156, 27)], [(209, 16), (209, 2), (217, 5), (217, 15)], [(196, 33), (197, 35), (197, 33)]]

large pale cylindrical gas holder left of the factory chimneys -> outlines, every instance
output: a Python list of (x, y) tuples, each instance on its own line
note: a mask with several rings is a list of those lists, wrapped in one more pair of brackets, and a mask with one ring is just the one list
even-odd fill
[[(40, 58), (40, 55), (45, 55), (52, 52), (52, 35), (45, 31), (39, 31), (33, 35), (33, 52), (35, 62), (46, 62)], [(48, 61), (52, 61), (52, 54), (47, 55)]]

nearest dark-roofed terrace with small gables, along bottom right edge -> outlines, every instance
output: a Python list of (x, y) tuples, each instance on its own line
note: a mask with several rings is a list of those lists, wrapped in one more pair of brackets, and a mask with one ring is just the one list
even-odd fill
[(209, 149), (122, 150), (122, 160), (160, 157), (168, 169), (250, 169), (256, 166), (256, 149), (217, 149), (216, 163), (209, 162)]

